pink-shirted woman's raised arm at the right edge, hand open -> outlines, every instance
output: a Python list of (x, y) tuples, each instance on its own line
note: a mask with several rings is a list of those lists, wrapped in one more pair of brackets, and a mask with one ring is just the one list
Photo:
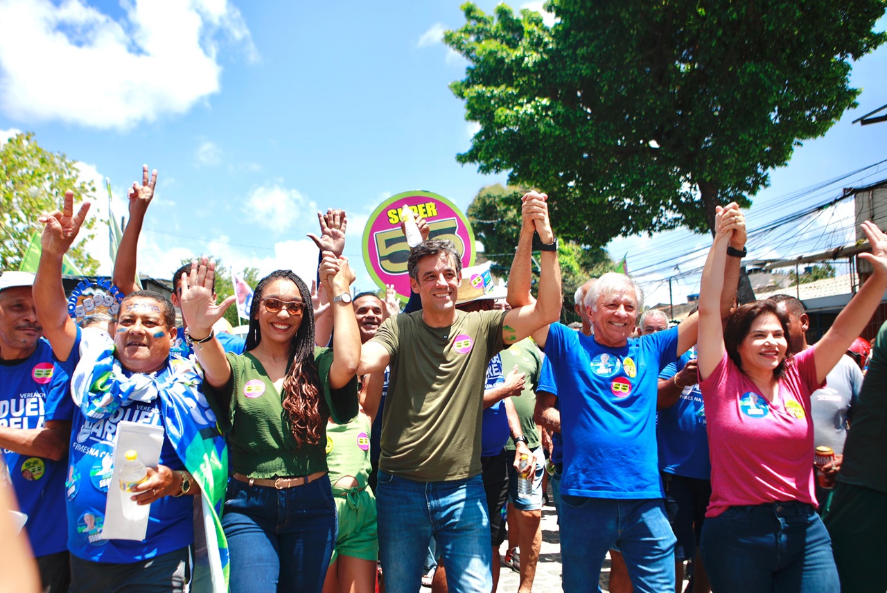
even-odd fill
[(872, 264), (872, 275), (868, 277), (860, 292), (847, 303), (838, 314), (835, 322), (820, 341), (813, 344), (816, 360), (816, 379), (825, 380), (854, 339), (860, 336), (871, 319), (875, 309), (887, 291), (887, 235), (874, 222), (863, 222), (862, 231), (866, 233), (871, 254), (860, 254), (859, 257)]

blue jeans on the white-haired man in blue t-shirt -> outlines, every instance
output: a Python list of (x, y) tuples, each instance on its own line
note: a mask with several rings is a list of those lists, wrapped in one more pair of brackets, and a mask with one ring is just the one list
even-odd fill
[(674, 591), (675, 537), (661, 498), (621, 500), (561, 494), (561, 519), (564, 591), (600, 590), (600, 566), (615, 544), (622, 551), (635, 591)]

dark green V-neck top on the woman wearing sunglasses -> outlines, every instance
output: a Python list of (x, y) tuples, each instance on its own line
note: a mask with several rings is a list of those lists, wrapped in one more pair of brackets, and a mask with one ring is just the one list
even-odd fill
[[(250, 478), (290, 478), (326, 472), (326, 422), (317, 445), (299, 448), (289, 412), (284, 410), (282, 396), (262, 363), (248, 352), (226, 356), (231, 363), (231, 380), (218, 389), (204, 383), (204, 390), (219, 427), (228, 433), (232, 471)], [(357, 415), (357, 378), (351, 378), (341, 389), (331, 389), (333, 351), (315, 348), (314, 358), (331, 416), (335, 422), (348, 422)]]

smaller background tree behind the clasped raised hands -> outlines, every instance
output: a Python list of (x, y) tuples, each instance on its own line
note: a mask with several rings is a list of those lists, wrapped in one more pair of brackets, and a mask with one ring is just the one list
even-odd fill
[[(483, 243), (483, 256), (492, 261), (491, 269), (500, 277), (507, 277), (514, 260), (521, 232), (521, 196), (527, 190), (496, 183), (477, 192), (468, 206), (468, 220), (475, 237)], [(538, 253), (534, 252), (533, 284), (538, 281)], [(564, 299), (561, 321), (578, 321), (573, 311), (573, 294), (590, 277), (616, 269), (606, 250), (586, 248), (569, 240), (561, 241), (558, 249), (561, 264), (561, 287)]]

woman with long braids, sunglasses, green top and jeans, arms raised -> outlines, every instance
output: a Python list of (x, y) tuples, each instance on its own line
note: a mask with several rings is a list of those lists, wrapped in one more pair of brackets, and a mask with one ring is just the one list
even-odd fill
[(212, 326), (232, 304), (212, 303), (213, 264), (184, 276), (181, 297), (204, 391), (228, 433), (233, 475), (222, 526), (232, 593), (318, 591), (336, 535), (326, 467), (326, 422), (357, 413), (360, 337), (350, 305), (354, 272), (324, 253), (318, 270), (331, 295), (333, 351), (314, 345), (308, 287), (278, 270), (256, 286), (246, 353), (225, 355)]

